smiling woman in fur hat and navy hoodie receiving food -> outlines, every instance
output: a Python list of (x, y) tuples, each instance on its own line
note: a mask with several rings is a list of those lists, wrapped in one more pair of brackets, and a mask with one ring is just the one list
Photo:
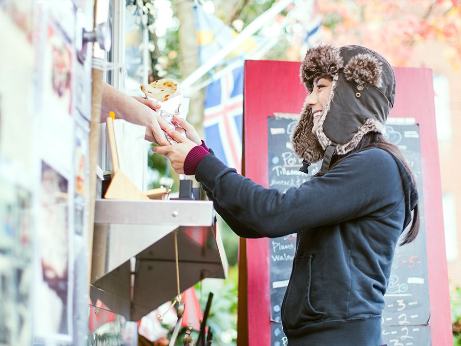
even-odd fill
[[(384, 293), (397, 240), (419, 228), (415, 181), (399, 149), (385, 140), (395, 76), (379, 54), (360, 46), (307, 51), (301, 80), (310, 92), (292, 135), (304, 168), (320, 172), (285, 193), (227, 168), (200, 143), (169, 132), (178, 144), (153, 150), (178, 173), (196, 179), (239, 236), (297, 232), (297, 249), (282, 304), (290, 346), (379, 346)], [(178, 119), (179, 120), (179, 119)]]

